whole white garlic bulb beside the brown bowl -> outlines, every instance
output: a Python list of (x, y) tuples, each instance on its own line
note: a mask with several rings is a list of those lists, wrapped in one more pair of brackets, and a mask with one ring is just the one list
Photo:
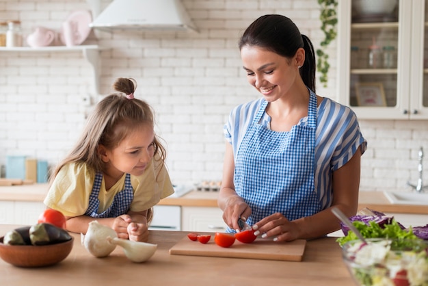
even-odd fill
[(94, 257), (106, 257), (116, 248), (115, 244), (107, 242), (107, 237), (118, 237), (116, 231), (113, 231), (109, 226), (98, 223), (96, 220), (89, 223), (86, 235), (83, 235), (83, 233), (80, 235), (81, 244)]

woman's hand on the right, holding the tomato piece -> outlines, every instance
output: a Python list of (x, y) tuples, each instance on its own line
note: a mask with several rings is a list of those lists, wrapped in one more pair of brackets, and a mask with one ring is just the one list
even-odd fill
[(254, 235), (262, 238), (273, 237), (276, 242), (289, 242), (299, 237), (299, 230), (295, 223), (287, 220), (282, 213), (273, 213), (253, 225)]

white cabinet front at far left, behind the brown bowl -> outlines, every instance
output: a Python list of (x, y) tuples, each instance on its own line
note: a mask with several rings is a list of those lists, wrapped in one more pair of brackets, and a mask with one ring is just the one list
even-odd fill
[(44, 209), (41, 202), (0, 201), (0, 224), (36, 224)]

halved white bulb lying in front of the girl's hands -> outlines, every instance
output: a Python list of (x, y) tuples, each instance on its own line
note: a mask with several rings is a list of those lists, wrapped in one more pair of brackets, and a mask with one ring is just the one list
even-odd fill
[(146, 242), (134, 242), (128, 239), (118, 237), (107, 237), (107, 241), (112, 245), (122, 246), (123, 252), (129, 260), (133, 262), (144, 262), (155, 254), (157, 244), (148, 244)]

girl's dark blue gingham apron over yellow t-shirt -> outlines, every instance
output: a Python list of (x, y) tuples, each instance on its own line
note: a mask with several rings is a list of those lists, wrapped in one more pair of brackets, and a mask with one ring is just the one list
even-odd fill
[(98, 207), (100, 206), (98, 194), (100, 193), (102, 181), (103, 174), (101, 172), (97, 172), (95, 174), (94, 186), (92, 187), (92, 192), (89, 198), (89, 206), (85, 215), (91, 216), (92, 218), (116, 218), (128, 212), (134, 198), (134, 191), (131, 185), (131, 175), (126, 174), (124, 190), (118, 192), (118, 194), (114, 196), (113, 203), (110, 207), (102, 213), (98, 213)]

